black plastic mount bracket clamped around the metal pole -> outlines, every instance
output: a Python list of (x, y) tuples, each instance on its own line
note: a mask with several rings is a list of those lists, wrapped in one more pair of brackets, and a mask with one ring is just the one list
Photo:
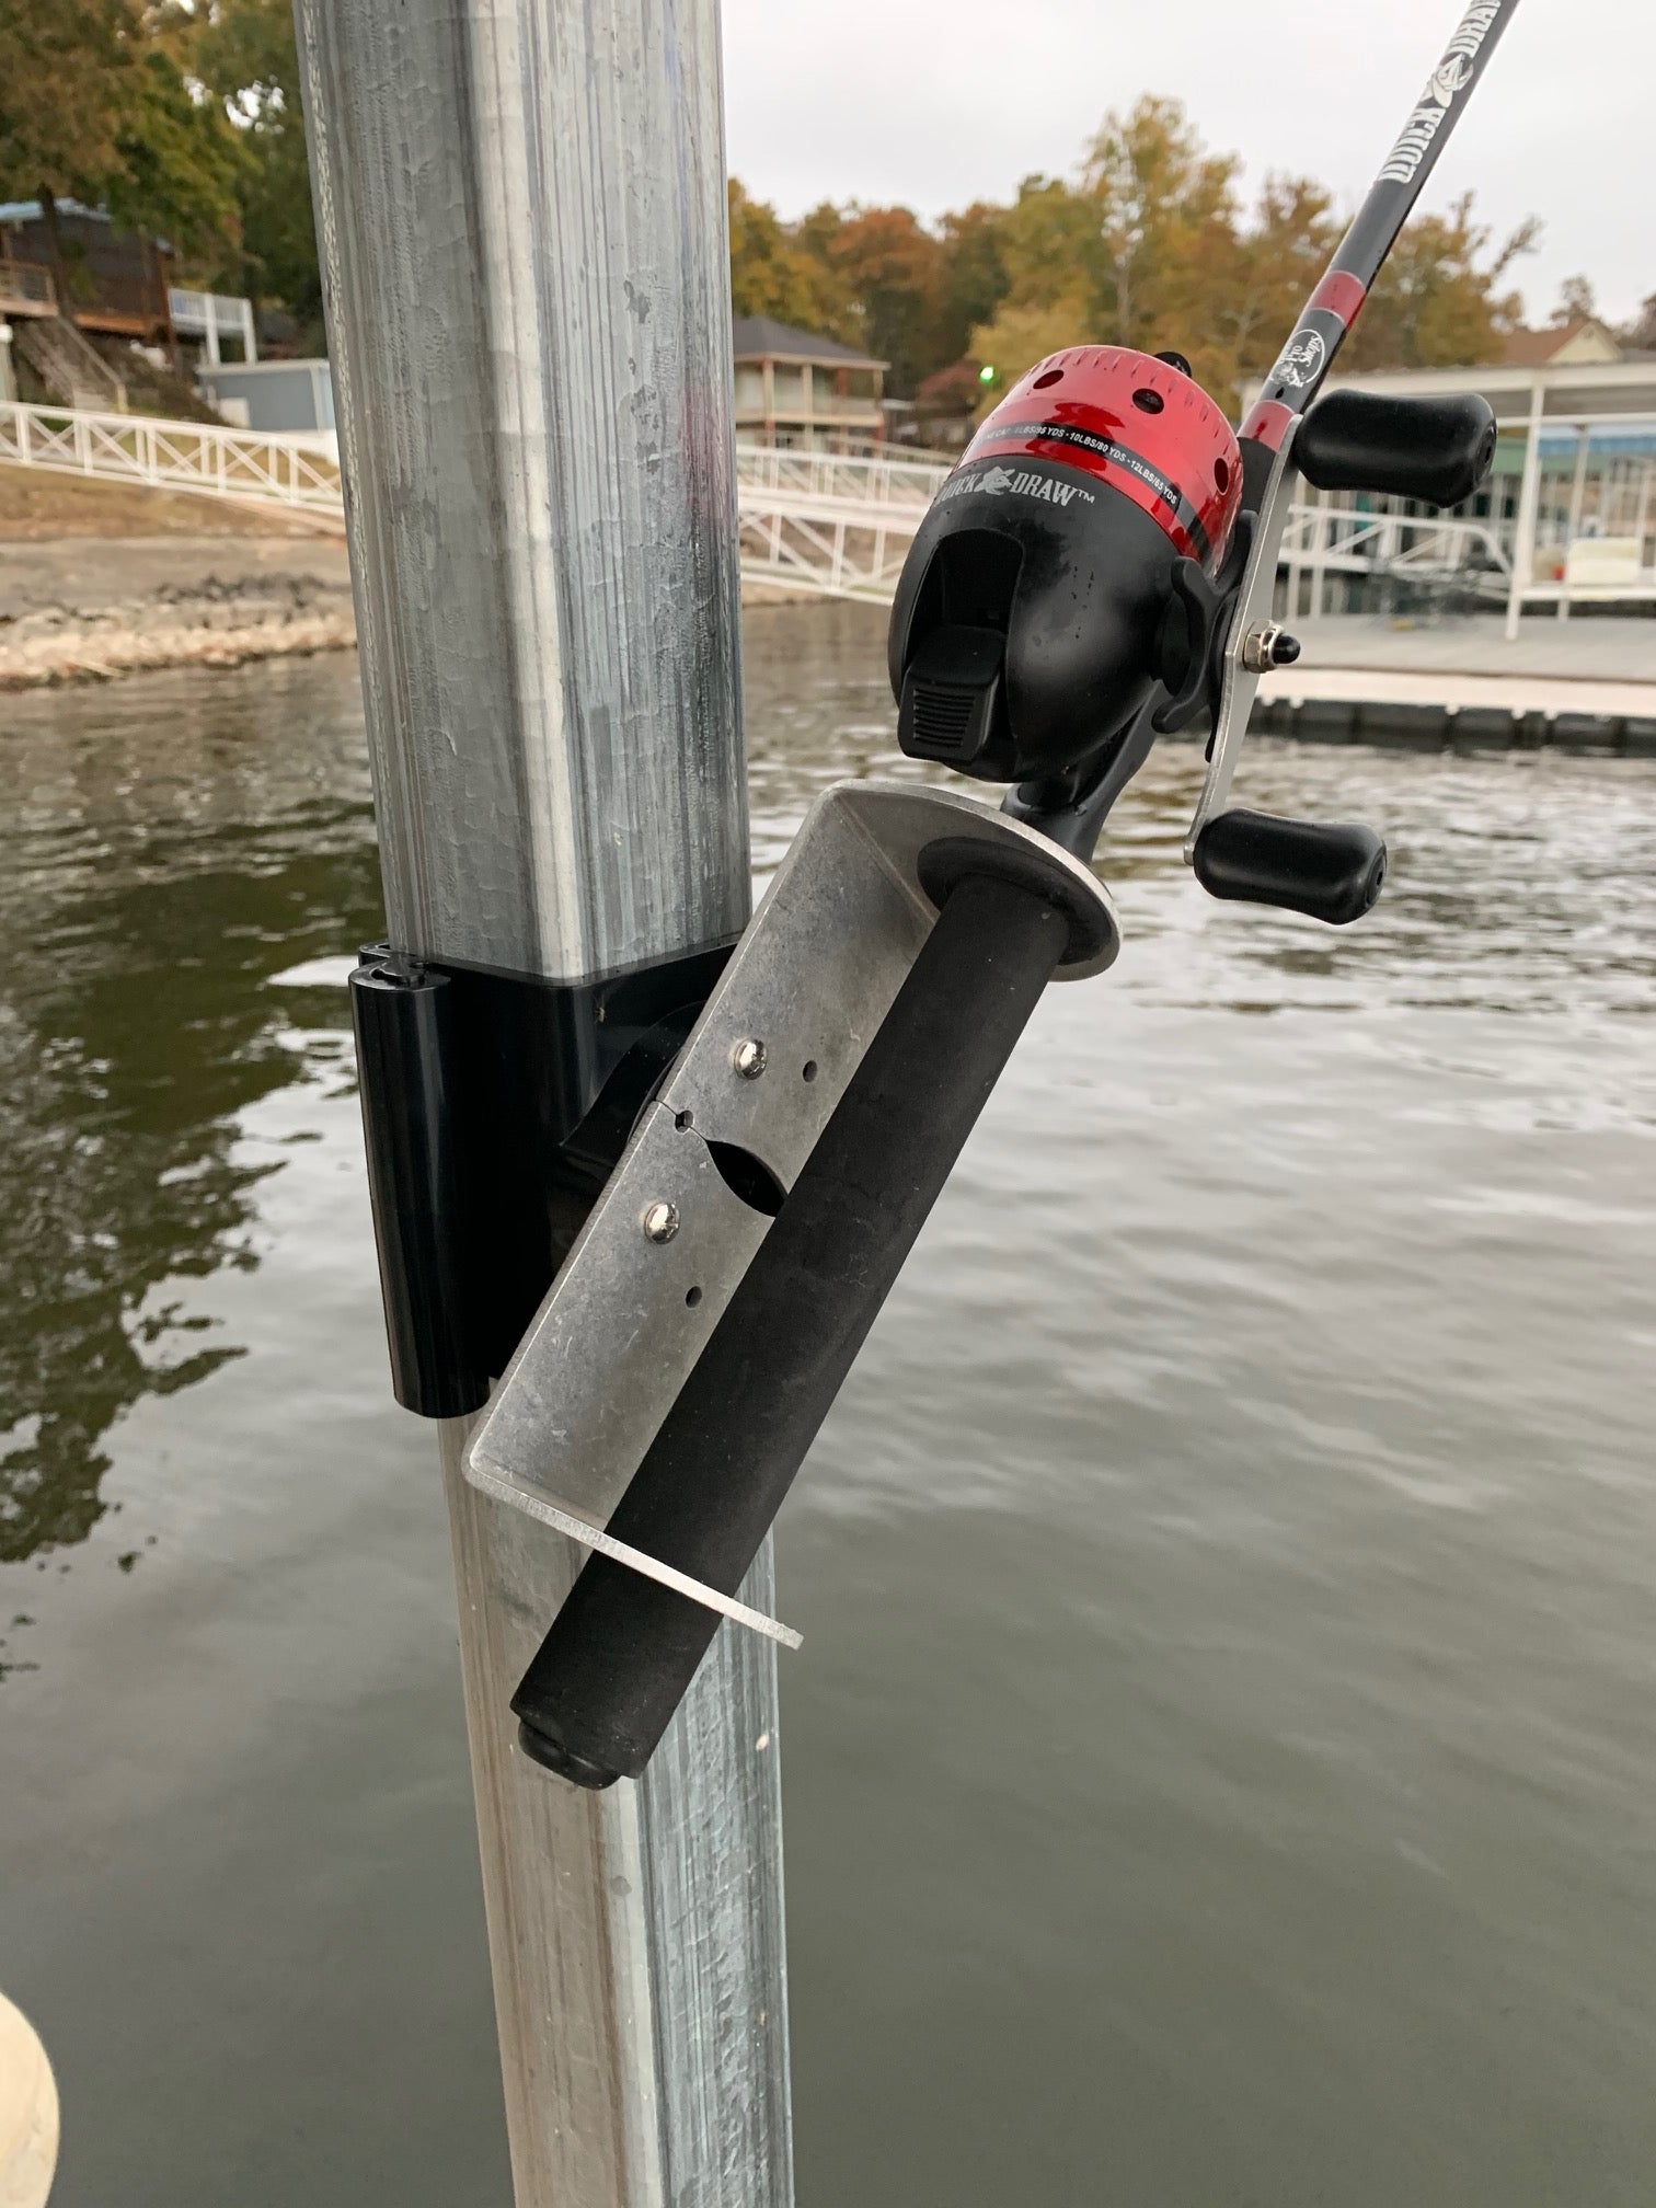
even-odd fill
[(404, 1409), (488, 1402), (729, 956), (552, 983), (362, 952), (351, 1020)]

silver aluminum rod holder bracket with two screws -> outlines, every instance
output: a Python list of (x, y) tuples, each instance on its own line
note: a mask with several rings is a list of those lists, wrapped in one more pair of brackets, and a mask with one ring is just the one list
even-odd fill
[(932, 932), (923, 854), (947, 850), (960, 872), (963, 843), (985, 846), (987, 872), (1062, 877), (1073, 919), (1058, 980), (1115, 960), (1108, 892), (1033, 828), (916, 784), (824, 790), (466, 1455), (466, 1477), (499, 1501), (788, 1647), (786, 1625), (605, 1526)]

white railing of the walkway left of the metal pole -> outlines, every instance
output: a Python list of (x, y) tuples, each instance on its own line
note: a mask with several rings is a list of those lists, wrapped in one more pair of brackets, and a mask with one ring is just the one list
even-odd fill
[(314, 437), (272, 437), (161, 415), (0, 404), (0, 461), (340, 519), (340, 464)]

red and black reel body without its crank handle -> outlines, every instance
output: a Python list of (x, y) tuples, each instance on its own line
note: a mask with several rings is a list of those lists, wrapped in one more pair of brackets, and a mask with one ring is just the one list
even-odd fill
[(899, 744), (985, 782), (1084, 779), (1208, 634), (1179, 570), (1219, 567), (1241, 455), (1183, 362), (1119, 344), (1038, 362), (938, 490), (896, 585)]

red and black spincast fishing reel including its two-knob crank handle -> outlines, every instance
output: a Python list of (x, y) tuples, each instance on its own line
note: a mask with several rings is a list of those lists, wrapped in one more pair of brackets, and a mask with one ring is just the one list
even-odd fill
[(1294, 475), (1451, 506), (1493, 455), (1479, 397), (1345, 391), (1270, 448), (1236, 439), (1179, 353), (1053, 353), (987, 417), (910, 548), (890, 627), (899, 744), (1009, 782), (1009, 817), (1091, 859), (1155, 737), (1206, 715), (1186, 843), (1201, 885), (1356, 921), (1384, 881), (1371, 828), (1228, 806), (1259, 678), (1298, 658), (1272, 618)]

